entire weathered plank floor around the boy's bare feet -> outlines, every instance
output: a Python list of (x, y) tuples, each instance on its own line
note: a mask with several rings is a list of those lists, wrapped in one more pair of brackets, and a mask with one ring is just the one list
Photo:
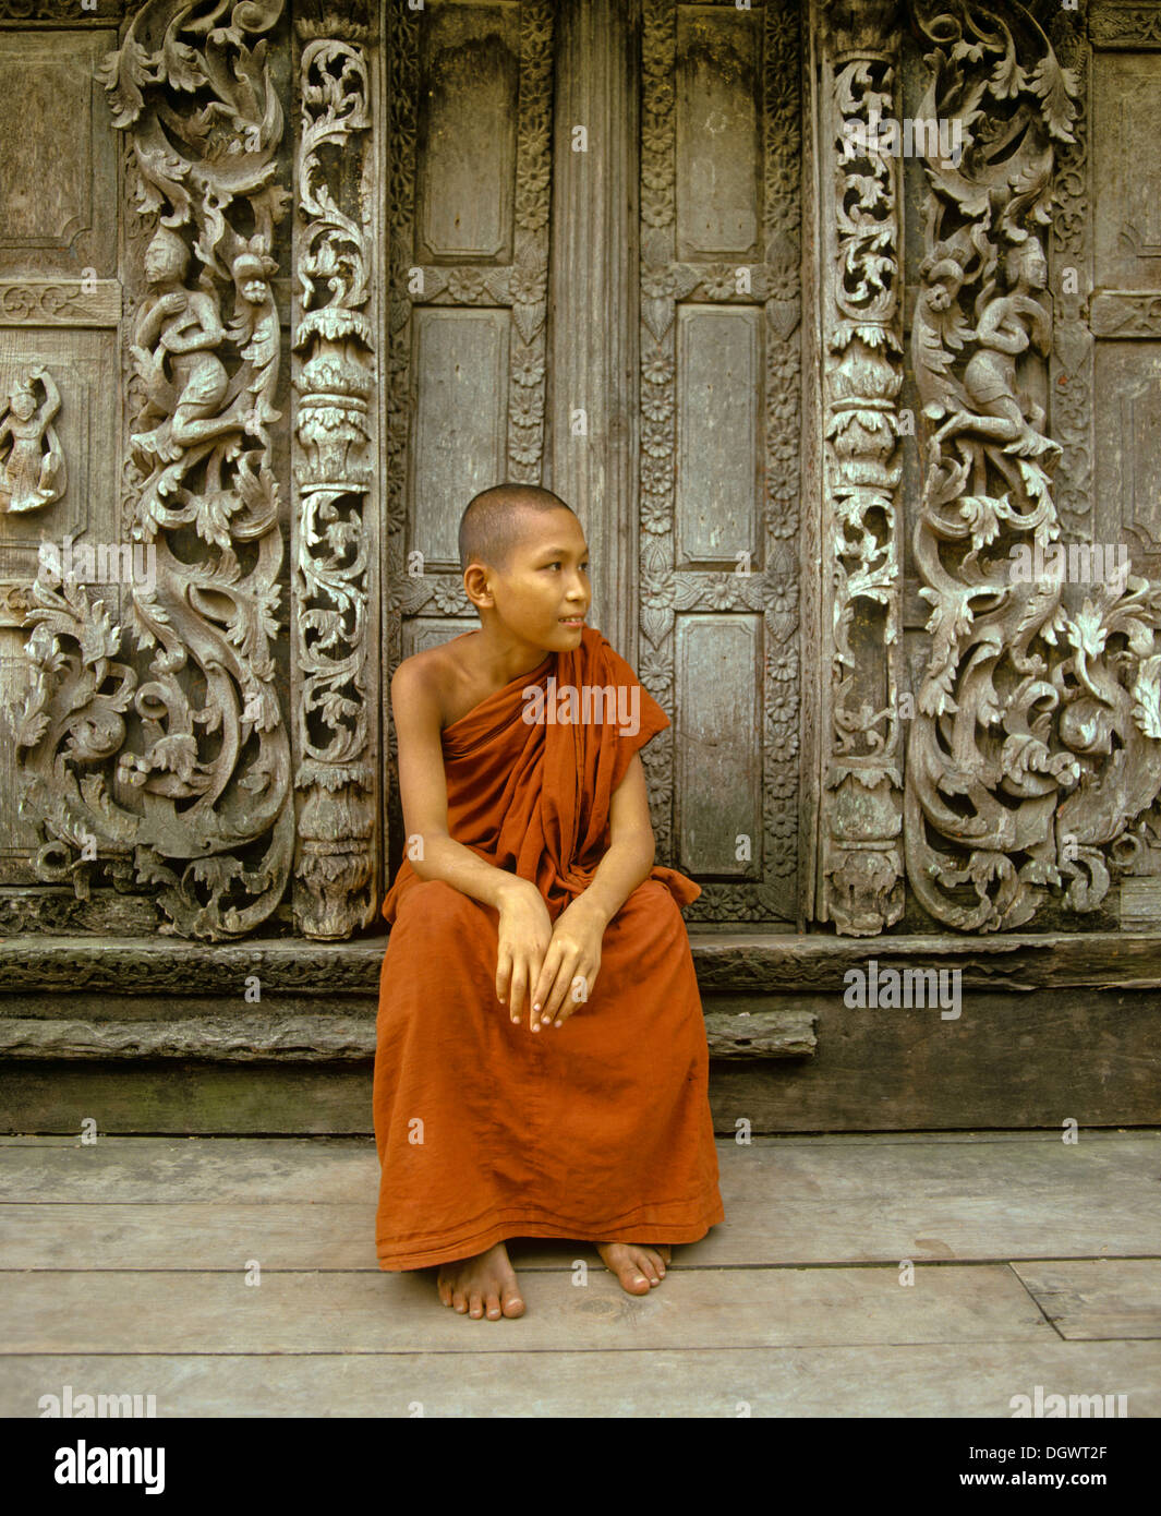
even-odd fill
[[(1020, 1132), (720, 1143), (728, 1213), (767, 1225), (753, 1251), (699, 1261), (703, 1245), (678, 1249), (665, 1281), (632, 1299), (591, 1249), (514, 1243), (527, 1314), (485, 1323), (438, 1305), (433, 1270), (350, 1260), (352, 1229), (367, 1246), (373, 1211), (367, 1142), (6, 1139), (0, 1201), (17, 1226), (0, 1254), (0, 1414), (38, 1416), (42, 1395), (71, 1386), (153, 1395), (159, 1417), (1009, 1419), (1012, 1396), (1040, 1384), (1112, 1390), (1129, 1416), (1156, 1416), (1161, 1342), (1076, 1340), (1046, 1311), (1052, 1292), (1105, 1304), (1102, 1275), (1126, 1316), (1155, 1307), (1131, 1255), (1149, 1245), (1140, 1192), (1155, 1184), (1158, 1145), (1158, 1132), (1108, 1134), (1066, 1157)], [(318, 1202), (299, 1198), (303, 1186)], [(11, 1204), (27, 1192), (39, 1204)], [(812, 1214), (796, 1214), (803, 1201)], [(890, 1248), (887, 1266), (850, 1267), (852, 1239), (875, 1246), (879, 1201), (888, 1225), (911, 1205), (941, 1237), (958, 1236), (958, 1216), (997, 1261), (917, 1258), (912, 1286), (897, 1283)], [(1103, 1231), (1119, 1257), (1053, 1257), (1070, 1226), (1079, 1249)], [(1044, 1252), (1019, 1261), (1037, 1236)], [(1011, 1264), (999, 1261), (1009, 1245)], [(577, 1255), (591, 1263), (584, 1284)], [(258, 1286), (244, 1284), (252, 1258)]]

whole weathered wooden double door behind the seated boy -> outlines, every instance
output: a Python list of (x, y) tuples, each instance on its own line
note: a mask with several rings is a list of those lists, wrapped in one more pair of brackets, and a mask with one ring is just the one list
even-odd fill
[(793, 923), (797, 5), (400, 3), (386, 50), (385, 666), (476, 625), (468, 499), (555, 490), (673, 722), (644, 763), (688, 917)]

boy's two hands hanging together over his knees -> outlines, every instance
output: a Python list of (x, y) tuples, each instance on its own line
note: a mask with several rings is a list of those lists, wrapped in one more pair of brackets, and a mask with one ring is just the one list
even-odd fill
[[(500, 908), (496, 998), (520, 1022), (524, 998), (529, 1029), (562, 1026), (593, 993), (600, 969), (605, 914), (579, 894), (553, 925), (549, 907), (530, 879), (514, 879)], [(579, 991), (574, 985), (579, 984)]]

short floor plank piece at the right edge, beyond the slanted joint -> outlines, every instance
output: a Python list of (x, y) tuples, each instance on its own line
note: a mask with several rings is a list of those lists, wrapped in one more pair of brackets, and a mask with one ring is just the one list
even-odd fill
[(1069, 1340), (1161, 1339), (1161, 1257), (1014, 1264)]

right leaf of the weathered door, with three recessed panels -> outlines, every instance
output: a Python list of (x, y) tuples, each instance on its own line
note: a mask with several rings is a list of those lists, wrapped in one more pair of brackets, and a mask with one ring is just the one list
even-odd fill
[(638, 675), (688, 919), (799, 911), (800, 18), (646, 0)]

